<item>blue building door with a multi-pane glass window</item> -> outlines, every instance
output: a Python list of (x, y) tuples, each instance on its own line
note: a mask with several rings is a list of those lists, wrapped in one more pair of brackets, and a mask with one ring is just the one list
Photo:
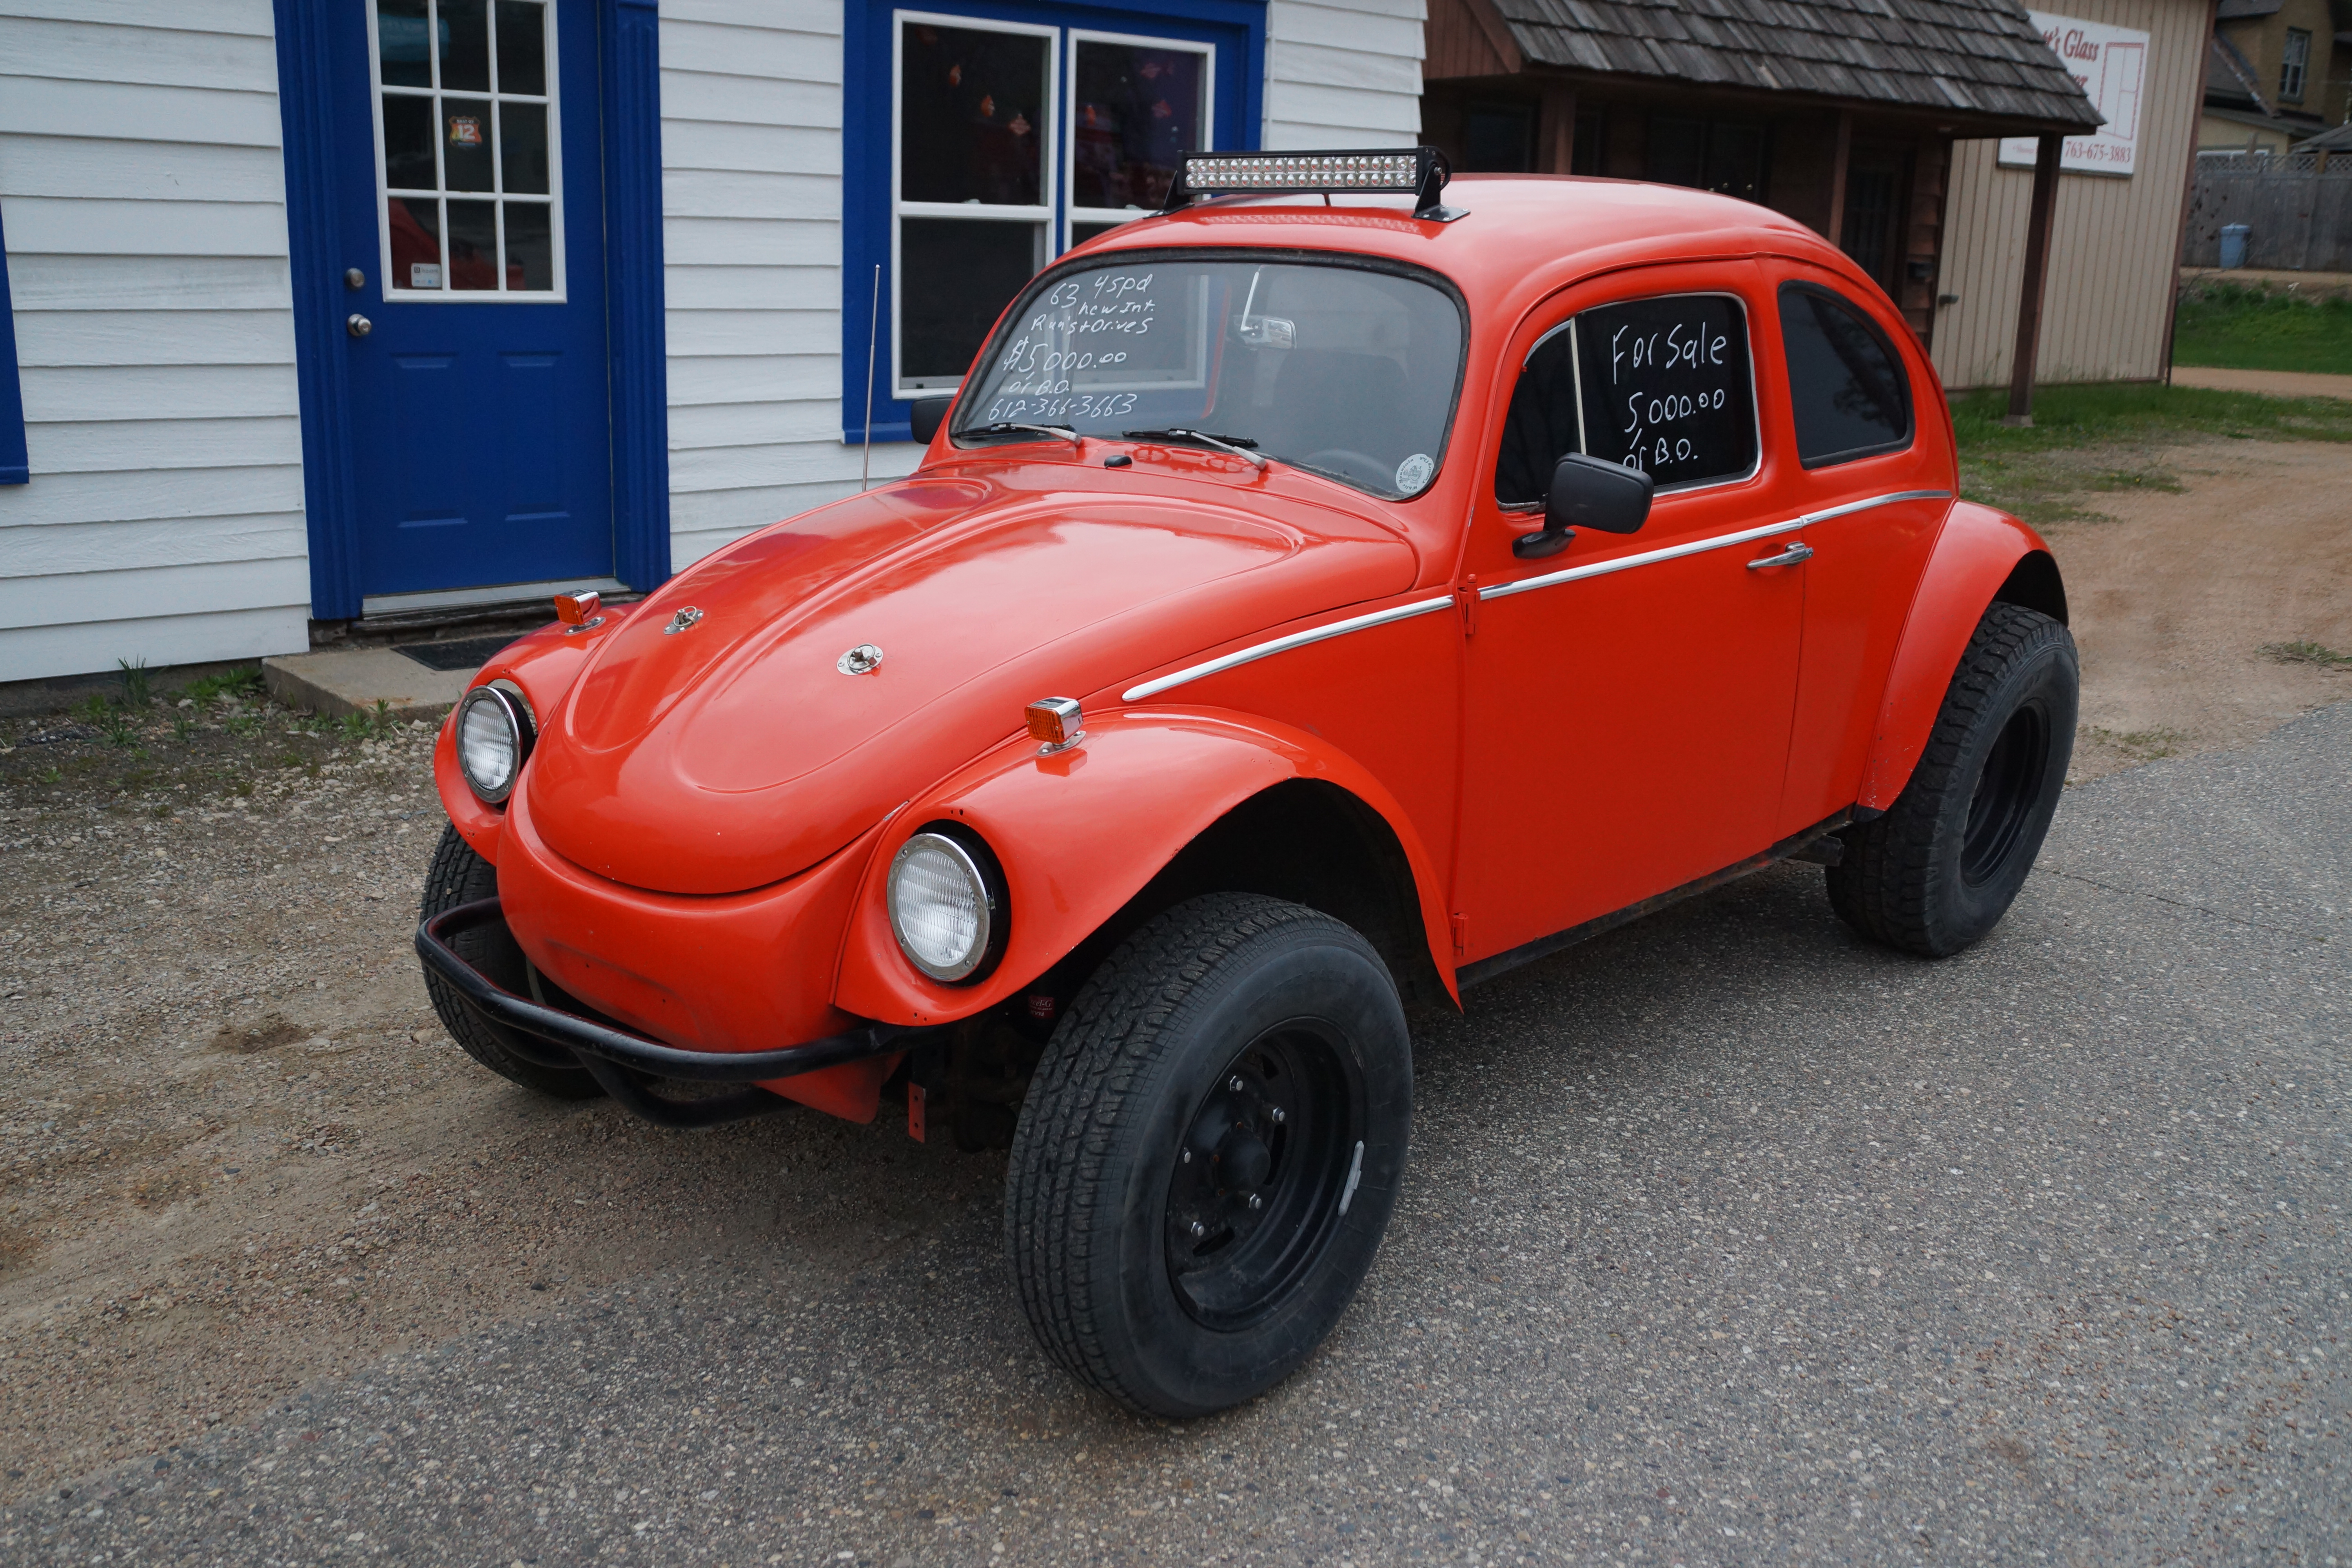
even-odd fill
[(612, 578), (595, 0), (334, 16), (358, 590)]

